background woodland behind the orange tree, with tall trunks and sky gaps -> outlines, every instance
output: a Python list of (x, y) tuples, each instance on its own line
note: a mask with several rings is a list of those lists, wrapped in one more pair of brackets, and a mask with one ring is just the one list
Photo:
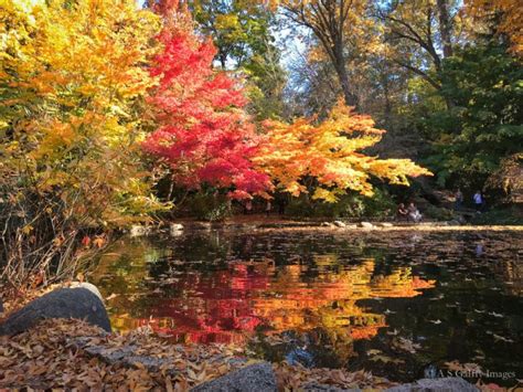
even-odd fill
[(338, 205), (325, 205), (302, 194), (289, 201), (289, 212), (380, 216), (417, 195), (449, 206), (445, 200), (458, 188), (469, 203), (481, 190), (490, 208), (523, 200), (523, 11), (515, 2), (311, 0), (267, 9), (238, 0), (193, 7), (200, 30), (221, 53), (216, 65), (247, 75), (254, 114), (322, 118), (342, 96), (387, 130), (369, 153), (408, 157), (435, 173), (410, 190), (378, 186), (374, 200), (349, 192)]

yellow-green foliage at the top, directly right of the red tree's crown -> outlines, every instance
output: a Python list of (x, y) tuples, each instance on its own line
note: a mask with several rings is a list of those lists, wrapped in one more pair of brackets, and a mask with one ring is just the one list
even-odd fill
[(222, 68), (246, 76), (249, 113), (258, 120), (278, 118), (286, 74), (270, 31), (275, 13), (248, 0), (199, 1), (193, 12), (201, 31), (213, 39)]

